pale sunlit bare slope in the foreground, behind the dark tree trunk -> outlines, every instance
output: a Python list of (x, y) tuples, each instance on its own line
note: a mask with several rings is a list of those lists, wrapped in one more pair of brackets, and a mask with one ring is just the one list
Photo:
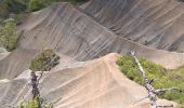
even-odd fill
[[(126, 78), (116, 65), (117, 54), (71, 65), (44, 73), (40, 82), (41, 97), (54, 108), (133, 108), (148, 107), (141, 102), (146, 90)], [(0, 107), (15, 106), (30, 98), (29, 71), (12, 81), (0, 81)], [(162, 105), (174, 104), (163, 100)], [(174, 104), (175, 105), (175, 104)]]

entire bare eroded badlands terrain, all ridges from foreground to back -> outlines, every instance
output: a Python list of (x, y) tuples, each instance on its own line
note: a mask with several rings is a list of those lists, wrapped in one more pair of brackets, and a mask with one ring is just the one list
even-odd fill
[(0, 53), (0, 108), (30, 98), (28, 67), (42, 44), (61, 56), (39, 84), (54, 108), (149, 108), (139, 102), (146, 90), (126, 78), (116, 59), (135, 51), (170, 69), (184, 64), (183, 12), (176, 0), (90, 0), (31, 13), (18, 26), (18, 48)]

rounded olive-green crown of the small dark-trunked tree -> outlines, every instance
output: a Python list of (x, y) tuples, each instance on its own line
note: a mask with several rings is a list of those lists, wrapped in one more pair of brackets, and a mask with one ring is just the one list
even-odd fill
[[(50, 64), (52, 59), (53, 62)], [(31, 60), (29, 68), (35, 71), (49, 71), (58, 64), (58, 59), (60, 57), (52, 50), (45, 50)]]

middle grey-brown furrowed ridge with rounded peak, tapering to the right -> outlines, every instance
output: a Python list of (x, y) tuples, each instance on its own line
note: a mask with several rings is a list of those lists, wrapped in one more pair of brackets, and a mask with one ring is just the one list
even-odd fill
[(24, 30), (19, 46), (0, 60), (1, 79), (14, 78), (28, 68), (42, 44), (75, 60), (89, 60), (111, 52), (127, 54), (135, 51), (137, 55), (167, 68), (184, 64), (182, 53), (155, 50), (121, 38), (68, 3), (32, 13), (19, 30)]

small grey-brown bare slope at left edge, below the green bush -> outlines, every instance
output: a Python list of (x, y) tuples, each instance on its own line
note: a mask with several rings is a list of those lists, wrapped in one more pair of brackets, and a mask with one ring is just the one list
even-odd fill
[[(0, 79), (12, 79), (17, 77), (29, 67), (36, 51), (17, 49), (0, 59)], [(2, 55), (0, 55), (2, 56)]]

